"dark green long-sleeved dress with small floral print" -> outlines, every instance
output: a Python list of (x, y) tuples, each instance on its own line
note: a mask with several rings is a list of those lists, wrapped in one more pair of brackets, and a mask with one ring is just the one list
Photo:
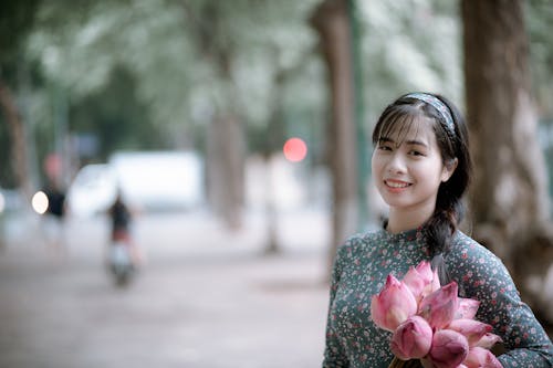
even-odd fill
[[(460, 296), (481, 302), (476, 318), (492, 325), (493, 333), (503, 339), (507, 353), (499, 357), (503, 367), (552, 367), (553, 345), (521, 302), (503, 263), (460, 231), (445, 259)], [(380, 291), (388, 274), (400, 278), (422, 260), (429, 260), (429, 252), (418, 230), (355, 235), (338, 249), (323, 367), (388, 367), (392, 334), (371, 320), (371, 297)]]

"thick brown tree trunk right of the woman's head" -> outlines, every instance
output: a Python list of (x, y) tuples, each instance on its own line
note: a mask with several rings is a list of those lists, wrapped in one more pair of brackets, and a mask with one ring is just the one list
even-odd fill
[(463, 0), (462, 19), (467, 117), (476, 162), (473, 235), (503, 260), (522, 297), (543, 319), (551, 309), (540, 297), (543, 285), (534, 282), (531, 288), (529, 280), (544, 280), (553, 260), (553, 236), (522, 3)]

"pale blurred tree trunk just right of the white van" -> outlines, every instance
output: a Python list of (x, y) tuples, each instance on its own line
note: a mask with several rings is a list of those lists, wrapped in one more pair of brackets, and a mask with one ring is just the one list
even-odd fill
[(186, 1), (181, 6), (186, 21), (194, 25), (200, 55), (211, 64), (225, 88), (222, 97), (212, 101), (215, 115), (207, 134), (207, 192), (215, 213), (237, 230), (242, 223), (246, 139), (232, 82), (233, 43), (223, 29), (219, 2), (206, 1), (198, 12)]

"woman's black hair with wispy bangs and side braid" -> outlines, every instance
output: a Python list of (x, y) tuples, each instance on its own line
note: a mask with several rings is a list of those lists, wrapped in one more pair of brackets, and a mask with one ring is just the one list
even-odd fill
[(444, 256), (449, 252), (451, 239), (465, 215), (462, 197), (470, 182), (472, 164), (465, 118), (449, 99), (437, 94), (428, 95), (435, 96), (447, 106), (453, 120), (453, 129), (448, 127), (444, 114), (431, 104), (409, 97), (407, 94), (385, 108), (373, 130), (373, 144), (377, 145), (382, 137), (388, 136), (393, 130), (399, 133), (401, 140), (414, 122), (429, 118), (434, 122), (432, 128), (444, 165), (452, 165), (457, 159), (453, 174), (438, 188), (432, 215), (422, 224), (432, 267), (438, 271), (440, 283), (444, 285), (449, 282)]

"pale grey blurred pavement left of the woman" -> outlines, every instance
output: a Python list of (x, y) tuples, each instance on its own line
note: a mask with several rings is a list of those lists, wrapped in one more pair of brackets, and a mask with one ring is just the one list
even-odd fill
[(204, 211), (143, 214), (147, 262), (126, 288), (103, 265), (105, 219), (69, 219), (64, 248), (45, 243), (40, 220), (0, 252), (1, 368), (321, 366), (324, 212), (281, 213), (273, 255), (261, 213), (239, 232)]

